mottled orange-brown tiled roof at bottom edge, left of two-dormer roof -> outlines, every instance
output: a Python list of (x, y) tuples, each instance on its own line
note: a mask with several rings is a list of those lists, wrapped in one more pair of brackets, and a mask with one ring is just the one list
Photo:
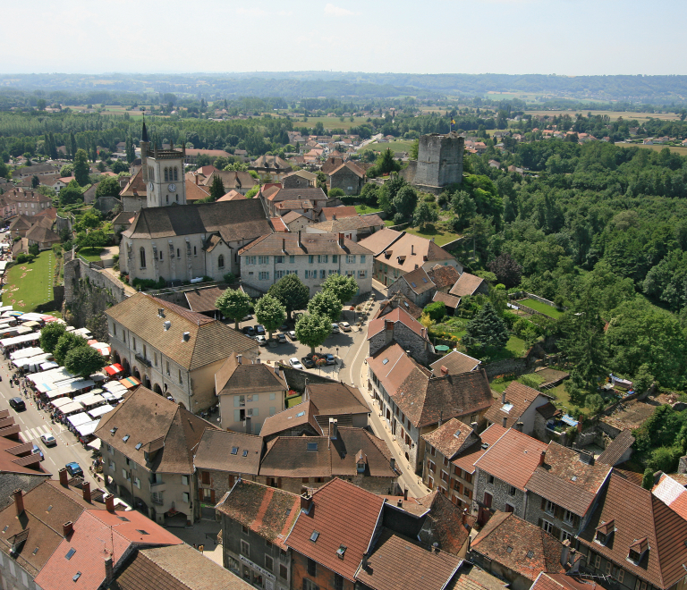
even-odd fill
[(562, 550), (563, 544), (555, 537), (512, 512), (496, 511), (471, 543), (471, 551), (530, 580), (537, 579), (540, 571), (564, 574)]

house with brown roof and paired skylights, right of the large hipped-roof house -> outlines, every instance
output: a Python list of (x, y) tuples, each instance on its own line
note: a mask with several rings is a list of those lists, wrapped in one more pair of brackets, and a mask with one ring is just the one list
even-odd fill
[(193, 455), (199, 501), (215, 505), (237, 481), (255, 481), (263, 446), (261, 436), (206, 429)]

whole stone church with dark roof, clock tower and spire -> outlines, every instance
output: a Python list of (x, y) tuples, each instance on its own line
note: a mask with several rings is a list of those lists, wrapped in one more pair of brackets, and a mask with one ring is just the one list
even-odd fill
[(143, 122), (135, 181), (145, 196), (137, 190), (131, 202), (123, 198), (124, 211), (136, 213), (119, 245), (120, 271), (130, 282), (203, 276), (218, 281), (227, 273), (239, 274), (239, 249), (273, 232), (258, 198), (188, 205), (184, 157), (185, 147), (151, 148)]

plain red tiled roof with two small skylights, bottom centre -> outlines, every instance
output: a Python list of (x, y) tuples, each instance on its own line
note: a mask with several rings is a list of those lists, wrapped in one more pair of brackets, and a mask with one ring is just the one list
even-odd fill
[[(335, 478), (312, 494), (312, 506), (301, 511), (286, 544), (351, 582), (367, 552), (381, 516), (384, 499)], [(355, 527), (351, 523), (355, 523)], [(317, 540), (310, 541), (314, 531)], [(346, 547), (344, 559), (336, 555)]]

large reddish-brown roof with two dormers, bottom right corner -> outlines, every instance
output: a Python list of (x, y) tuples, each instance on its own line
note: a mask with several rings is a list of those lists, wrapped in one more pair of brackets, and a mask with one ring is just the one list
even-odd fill
[[(613, 520), (611, 539), (604, 544), (594, 541), (598, 527)], [(649, 550), (639, 564), (628, 560), (630, 545), (647, 538)], [(607, 560), (640, 577), (657, 588), (670, 588), (684, 577), (687, 563), (687, 520), (671, 510), (649, 490), (611, 474), (605, 492), (587, 526), (578, 535), (585, 547), (591, 547)]]

